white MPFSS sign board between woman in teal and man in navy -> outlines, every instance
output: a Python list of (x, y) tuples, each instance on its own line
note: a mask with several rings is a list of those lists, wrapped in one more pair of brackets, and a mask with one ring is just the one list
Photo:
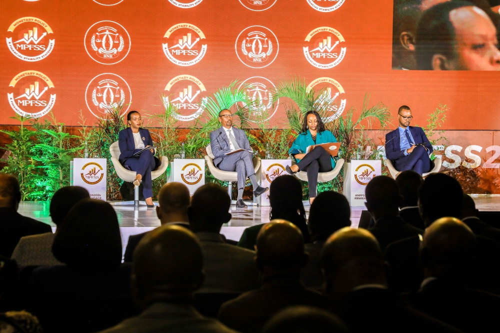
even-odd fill
[(382, 173), (381, 160), (351, 160), (344, 164), (344, 195), (351, 206), (364, 206), (368, 182)]

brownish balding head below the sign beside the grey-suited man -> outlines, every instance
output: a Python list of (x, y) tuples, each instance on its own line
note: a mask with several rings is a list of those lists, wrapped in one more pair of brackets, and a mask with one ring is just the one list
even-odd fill
[(161, 224), (187, 222), (190, 198), (189, 189), (180, 182), (168, 182), (161, 186), (156, 207), (156, 215)]

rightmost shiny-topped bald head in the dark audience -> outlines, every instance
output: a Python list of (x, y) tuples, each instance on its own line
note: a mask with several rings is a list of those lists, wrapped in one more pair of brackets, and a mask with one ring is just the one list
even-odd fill
[(463, 276), (473, 262), (475, 236), (454, 217), (442, 217), (425, 229), (420, 243), (420, 262), (424, 277)]

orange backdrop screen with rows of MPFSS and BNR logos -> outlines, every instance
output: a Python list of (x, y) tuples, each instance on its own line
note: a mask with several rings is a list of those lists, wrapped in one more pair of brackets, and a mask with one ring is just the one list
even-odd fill
[(0, 15), (1, 124), (49, 109), (92, 123), (121, 98), (145, 113), (180, 103), (190, 120), (203, 96), (239, 79), (279, 125), (268, 90), (298, 75), (340, 107), (360, 108), (368, 92), (393, 114), (409, 105), (419, 124), (441, 103), (446, 129), (500, 127), (500, 74), (391, 70), (392, 1), (2, 0)]

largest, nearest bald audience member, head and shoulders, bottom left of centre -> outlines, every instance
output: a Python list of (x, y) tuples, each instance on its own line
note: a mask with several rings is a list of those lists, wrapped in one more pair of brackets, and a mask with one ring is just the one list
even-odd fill
[(203, 278), (203, 253), (192, 232), (174, 224), (148, 232), (133, 253), (131, 277), (142, 312), (102, 333), (233, 332), (192, 306)]

